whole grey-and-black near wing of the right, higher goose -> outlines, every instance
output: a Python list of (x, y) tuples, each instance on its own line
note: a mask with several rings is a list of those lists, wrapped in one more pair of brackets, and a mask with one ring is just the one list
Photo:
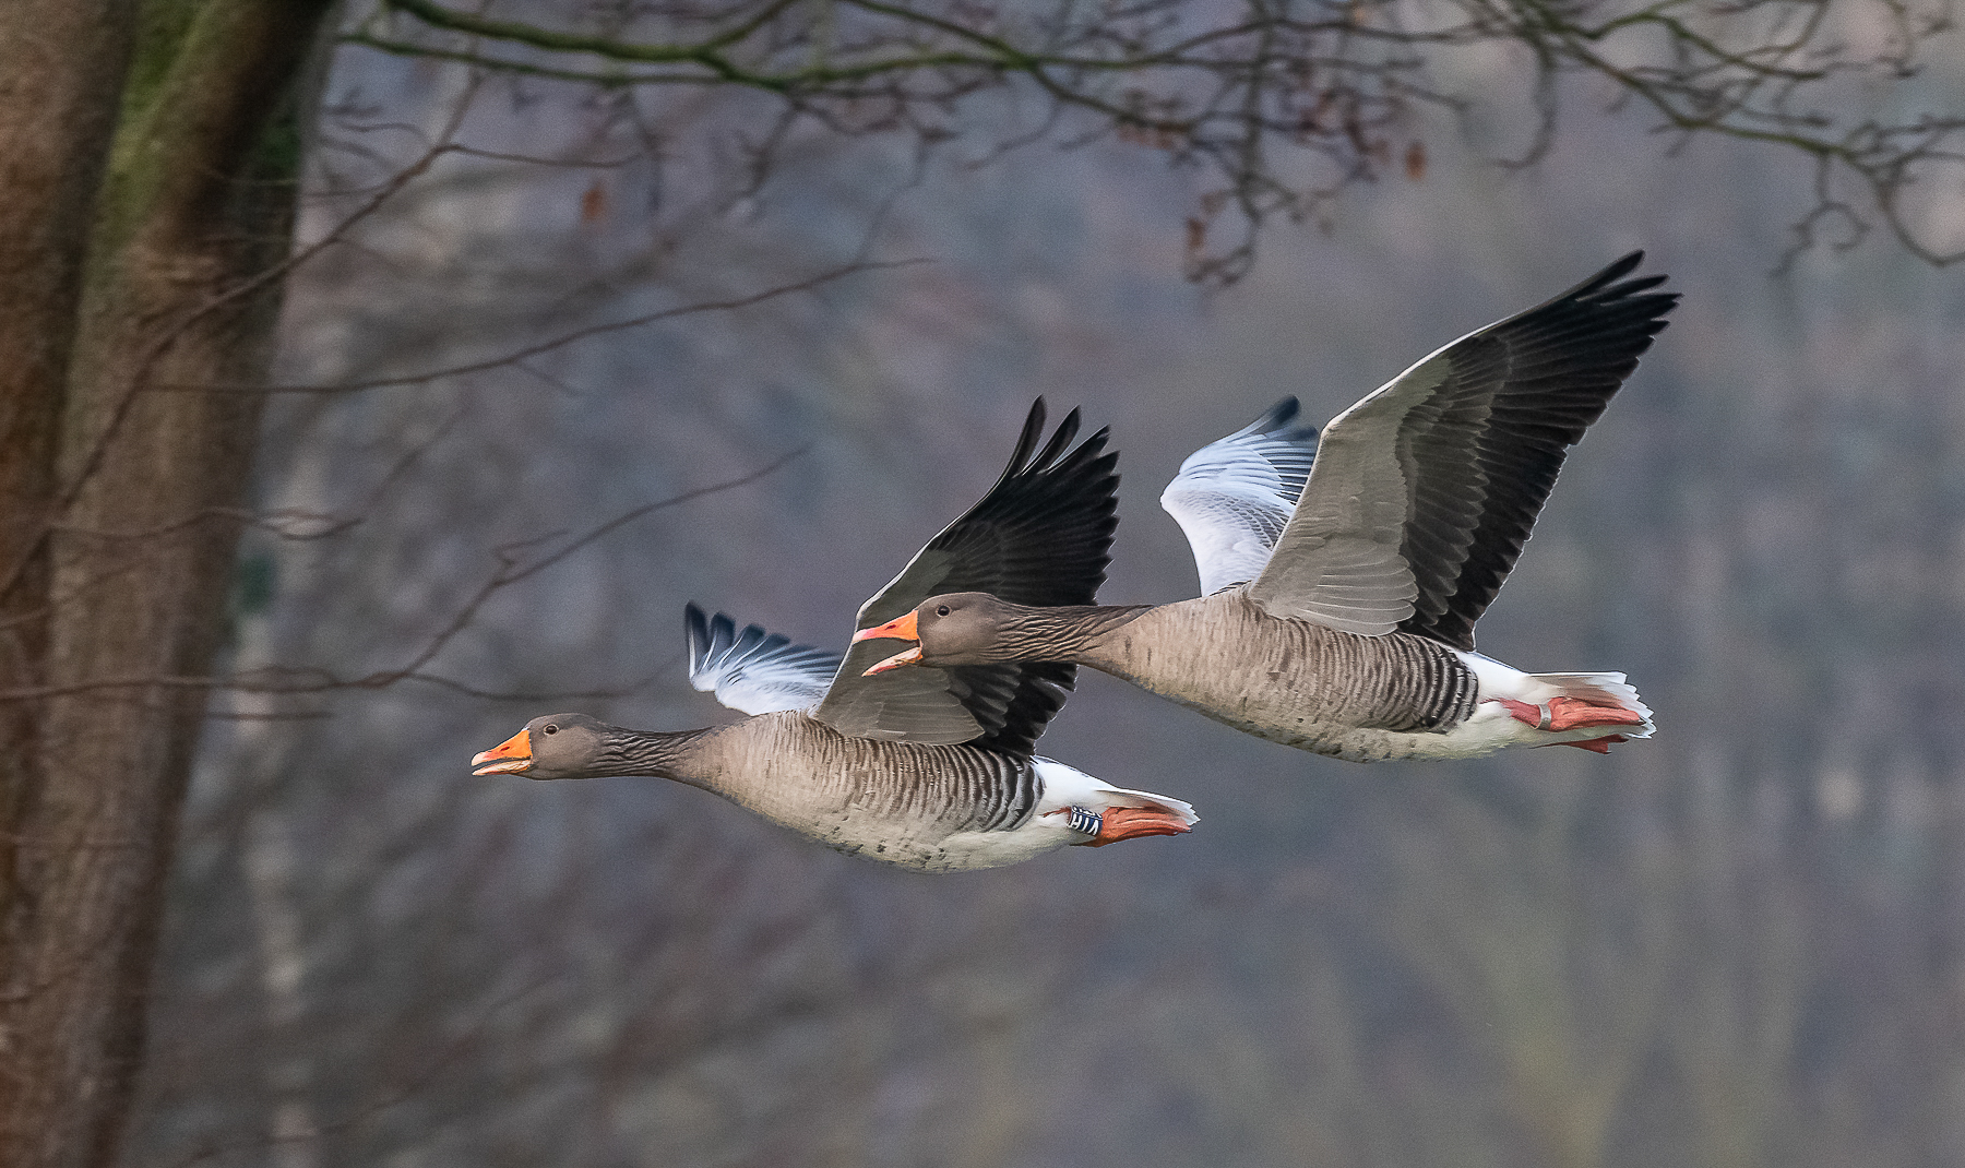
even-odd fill
[[(1470, 332), (1324, 427), (1297, 511), (1250, 584), (1273, 615), (1474, 647), (1474, 621), (1678, 293), (1633, 252)], [(1623, 281), (1623, 283), (1619, 283)]]

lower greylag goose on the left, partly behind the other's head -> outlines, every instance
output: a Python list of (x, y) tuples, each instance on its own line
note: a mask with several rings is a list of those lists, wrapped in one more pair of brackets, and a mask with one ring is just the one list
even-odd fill
[[(1106, 431), (1067, 450), (1071, 411), (1038, 450), (1043, 401), (982, 501), (931, 539), (861, 608), (882, 623), (929, 592), (990, 590), (1022, 604), (1087, 604), (1112, 543), (1116, 454)], [(1036, 454), (1034, 454), (1036, 452)], [(474, 775), (650, 775), (721, 794), (839, 851), (926, 871), (1018, 863), (1069, 844), (1173, 836), (1195, 822), (1177, 798), (1110, 787), (1032, 757), (1063, 706), (1069, 665), (977, 665), (863, 676), (757, 625), (690, 606), (690, 680), (753, 714), (735, 726), (646, 731), (586, 714), (534, 718), (472, 759)]]

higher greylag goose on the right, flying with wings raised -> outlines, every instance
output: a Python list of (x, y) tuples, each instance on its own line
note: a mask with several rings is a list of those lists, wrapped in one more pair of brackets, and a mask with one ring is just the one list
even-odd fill
[(1474, 653), (1562, 458), (1664, 328), (1631, 254), (1427, 356), (1317, 438), (1287, 399), (1197, 450), (1161, 505), (1207, 596), (1034, 608), (949, 590), (855, 641), (872, 669), (1091, 665), (1208, 718), (1352, 761), (1474, 757), (1651, 733), (1621, 672), (1531, 674)]

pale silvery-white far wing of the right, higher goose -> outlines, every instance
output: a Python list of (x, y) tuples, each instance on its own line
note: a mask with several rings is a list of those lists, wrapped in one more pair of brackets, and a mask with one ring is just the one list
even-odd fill
[(1317, 427), (1297, 425), (1295, 397), (1187, 456), (1159, 505), (1187, 533), (1201, 596), (1262, 572), (1315, 456)]

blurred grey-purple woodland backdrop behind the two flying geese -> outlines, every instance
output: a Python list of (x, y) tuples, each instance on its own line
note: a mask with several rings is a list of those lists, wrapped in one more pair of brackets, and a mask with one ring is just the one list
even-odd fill
[[(1961, 61), (1926, 96), (1959, 106)], [(1421, 153), (1203, 289), (1191, 175), (996, 153), (1016, 92), (926, 151), (794, 130), (758, 183), (757, 94), (336, 51), (301, 244), (474, 151), (293, 273), (277, 381), (322, 391), (269, 407), (285, 519), (246, 535), (226, 665), (373, 684), (214, 698), (124, 1162), (1965, 1164), (1965, 273), (1879, 238), (1776, 277), (1804, 157), (1556, 96), (1541, 165), (1419, 116)], [(1189, 596), (1155, 503), (1187, 452), (1629, 248), (1684, 305), (1480, 641), (1629, 671), (1653, 741), (1358, 767), (1087, 674), (1041, 749), (1201, 826), (955, 877), (660, 781), (468, 775), (534, 714), (729, 718), (688, 600), (841, 647), (1038, 393), (1122, 450), (1102, 598)], [(472, 608), (499, 549), (786, 454)]]

